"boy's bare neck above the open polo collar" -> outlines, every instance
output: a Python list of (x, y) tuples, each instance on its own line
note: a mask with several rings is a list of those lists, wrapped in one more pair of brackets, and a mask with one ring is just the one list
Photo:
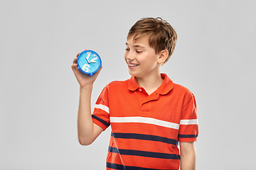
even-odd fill
[(151, 75), (150, 77), (136, 77), (140, 87), (143, 87), (147, 94), (152, 94), (156, 89), (161, 86), (164, 79), (161, 78), (161, 74)]

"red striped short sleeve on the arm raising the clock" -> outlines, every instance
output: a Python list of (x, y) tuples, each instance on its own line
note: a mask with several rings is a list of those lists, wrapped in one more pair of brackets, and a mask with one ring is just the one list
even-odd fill
[(110, 126), (110, 109), (108, 105), (108, 87), (102, 90), (100, 96), (97, 98), (95, 108), (92, 113), (93, 123), (106, 130)]

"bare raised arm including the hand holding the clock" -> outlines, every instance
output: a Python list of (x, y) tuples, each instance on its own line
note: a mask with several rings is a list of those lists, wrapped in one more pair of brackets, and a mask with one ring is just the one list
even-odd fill
[(80, 84), (80, 99), (78, 107), (78, 139), (81, 145), (90, 145), (103, 131), (100, 126), (92, 122), (91, 113), (92, 86), (102, 67), (97, 73), (93, 74), (92, 77), (90, 75), (82, 74), (77, 69), (78, 55), (73, 60), (73, 65), (71, 67), (75, 77), (78, 80), (78, 83)]

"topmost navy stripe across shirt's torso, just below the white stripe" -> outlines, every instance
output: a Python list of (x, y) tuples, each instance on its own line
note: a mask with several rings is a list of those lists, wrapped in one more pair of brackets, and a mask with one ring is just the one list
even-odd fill
[(160, 137), (156, 135), (144, 135), (137, 133), (112, 133), (114, 138), (122, 138), (122, 139), (136, 139), (136, 140), (151, 140), (156, 142), (164, 142), (171, 145), (177, 145), (178, 141), (169, 139), (167, 137)]

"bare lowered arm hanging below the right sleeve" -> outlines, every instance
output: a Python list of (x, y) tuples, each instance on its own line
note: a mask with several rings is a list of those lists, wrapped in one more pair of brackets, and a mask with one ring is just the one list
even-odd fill
[(196, 147), (194, 142), (180, 142), (181, 170), (196, 169)]

